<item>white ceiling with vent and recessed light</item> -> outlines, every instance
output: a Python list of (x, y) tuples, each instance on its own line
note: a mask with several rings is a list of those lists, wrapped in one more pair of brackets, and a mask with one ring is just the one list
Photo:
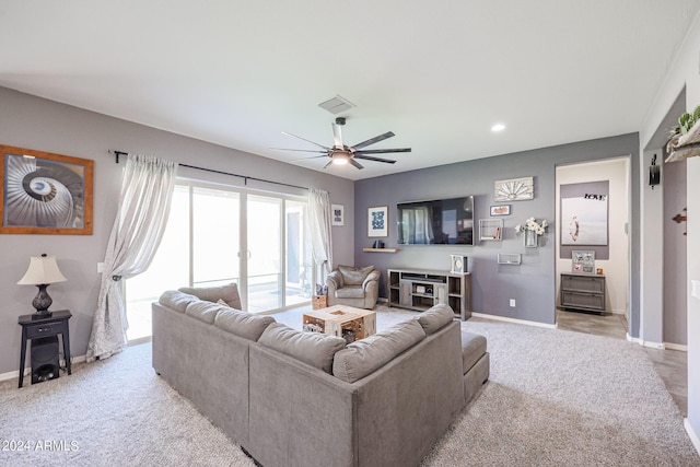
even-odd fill
[(0, 0), (0, 86), (284, 162), (318, 148), (282, 131), (332, 145), (336, 116), (412, 148), (326, 170), (359, 179), (638, 131), (699, 5)]

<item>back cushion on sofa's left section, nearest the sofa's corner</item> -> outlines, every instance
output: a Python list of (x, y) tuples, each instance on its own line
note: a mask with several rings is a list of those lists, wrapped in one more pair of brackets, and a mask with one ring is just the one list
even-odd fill
[(346, 347), (346, 340), (341, 337), (302, 332), (281, 323), (269, 325), (258, 342), (326, 373), (330, 373), (332, 370), (332, 359), (336, 352)]

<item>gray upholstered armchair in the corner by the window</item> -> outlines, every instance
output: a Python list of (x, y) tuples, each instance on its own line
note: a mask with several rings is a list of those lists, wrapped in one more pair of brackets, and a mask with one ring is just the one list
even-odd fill
[(338, 266), (326, 278), (328, 306), (348, 305), (372, 310), (380, 296), (381, 272), (374, 266)]

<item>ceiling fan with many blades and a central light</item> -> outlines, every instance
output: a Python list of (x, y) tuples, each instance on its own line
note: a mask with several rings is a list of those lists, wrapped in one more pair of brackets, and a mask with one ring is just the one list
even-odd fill
[[(324, 168), (326, 168), (327, 166), (329, 166), (330, 164), (337, 164), (337, 165), (345, 165), (345, 164), (351, 164), (353, 166), (355, 166), (357, 168), (364, 168), (364, 166), (362, 166), (362, 164), (360, 164), (357, 160), (358, 159), (363, 159), (365, 161), (375, 161), (375, 162), (384, 162), (387, 164), (394, 164), (396, 163), (396, 161), (393, 161), (390, 159), (382, 159), (382, 157), (375, 157), (369, 154), (386, 154), (386, 153), (390, 153), (390, 152), (411, 152), (410, 148), (397, 148), (397, 149), (364, 149), (369, 145), (375, 144), (380, 141), (384, 141), (387, 138), (392, 138), (394, 135), (394, 132), (392, 131), (387, 131), (383, 135), (376, 136), (374, 138), (370, 138), (366, 141), (362, 141), (361, 143), (354, 144), (354, 145), (346, 145), (342, 142), (342, 133), (340, 130), (340, 127), (342, 127), (346, 124), (346, 118), (345, 117), (337, 117), (336, 121), (332, 125), (332, 141), (334, 141), (334, 145), (332, 147), (326, 147), (323, 144), (318, 144), (317, 142), (307, 140), (306, 138), (302, 138), (302, 137), (298, 137), (296, 135), (292, 135), (292, 133), (288, 133), (287, 131), (282, 131), (283, 135), (290, 136), (290, 137), (294, 137), (294, 138), (299, 138), (300, 140), (310, 142), (314, 145), (317, 145), (318, 148), (322, 148), (323, 151), (319, 150), (306, 150), (306, 149), (280, 149), (280, 151), (301, 151), (301, 152), (319, 152), (323, 155), (315, 155), (313, 157), (305, 157), (305, 159), (298, 159), (298, 161), (305, 161), (308, 159), (318, 159), (318, 157), (329, 157), (330, 161), (328, 161), (328, 163), (326, 165), (324, 165)], [(294, 162), (294, 161), (292, 161)]]

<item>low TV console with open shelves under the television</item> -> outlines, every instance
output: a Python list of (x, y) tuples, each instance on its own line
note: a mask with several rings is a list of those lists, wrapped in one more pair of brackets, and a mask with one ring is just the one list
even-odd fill
[(471, 317), (471, 275), (424, 269), (388, 270), (388, 305), (425, 311), (446, 303), (462, 320)]

